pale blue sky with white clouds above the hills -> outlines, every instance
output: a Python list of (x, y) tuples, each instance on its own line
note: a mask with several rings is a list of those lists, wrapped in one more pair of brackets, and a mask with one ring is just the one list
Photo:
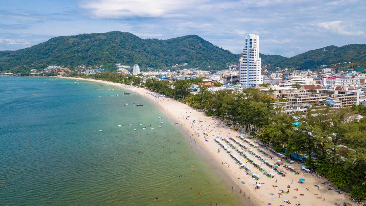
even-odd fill
[(234, 54), (259, 35), (259, 52), (292, 57), (366, 44), (365, 0), (1, 0), (0, 50), (52, 37), (111, 31), (140, 38), (196, 34)]

